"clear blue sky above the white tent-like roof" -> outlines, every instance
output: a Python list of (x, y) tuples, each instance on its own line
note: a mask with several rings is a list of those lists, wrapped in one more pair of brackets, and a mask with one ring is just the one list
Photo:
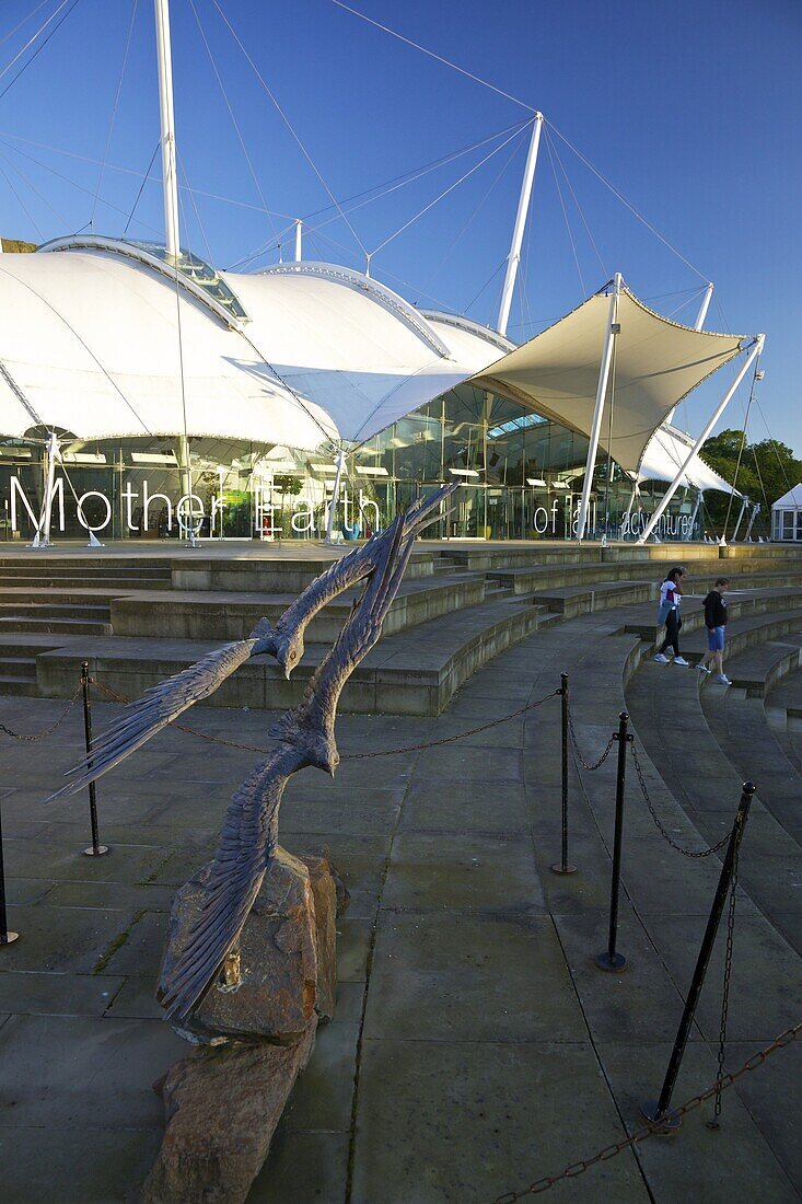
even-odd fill
[[(0, 71), (57, 2), (47, 0), (0, 45)], [(368, 250), (527, 117), (524, 107), (331, 0), (219, 4), (342, 202), (508, 130), (353, 209), (349, 220)], [(277, 260), (276, 236), (289, 219), (326, 209), (309, 218), (309, 228), (319, 226), (331, 217), (330, 197), (213, 0), (194, 5), (259, 187), (193, 2), (171, 0), (181, 176), (193, 189), (182, 193), (182, 241), (218, 266), (231, 266), (272, 242), (273, 249), (247, 261), (266, 266)], [(0, 37), (35, 7), (36, 0), (4, 0)], [(685, 303), (676, 317), (689, 323), (698, 305), (695, 290), (703, 285), (605, 188), (556, 129), (702, 277), (715, 282), (708, 326), (766, 331), (760, 406), (772, 435), (802, 453), (800, 0), (353, 0), (353, 7), (542, 110), (553, 123), (550, 138), (541, 146), (521, 288), (511, 317), (513, 337), (535, 334), (617, 270), (664, 313)], [(37, 59), (0, 96), (4, 236), (40, 242), (71, 232), (85, 226), (93, 208), (95, 232), (123, 232), (159, 135), (153, 0), (138, 0), (95, 207), (132, 11), (132, 0), (78, 0)], [(0, 93), (26, 57), (0, 77)], [(508, 250), (525, 143), (525, 134), (513, 137), (379, 250), (372, 273), (420, 305), (467, 312), (494, 325), (502, 279), (496, 270)], [(153, 170), (160, 173), (158, 158)], [(270, 214), (263, 212), (265, 205)], [(160, 190), (151, 182), (129, 235), (161, 238), (161, 229)], [(291, 236), (283, 237), (284, 254), (291, 255)], [(305, 250), (308, 258), (365, 264), (338, 217), (311, 234)], [(680, 421), (698, 429), (704, 407), (725, 383), (721, 373), (712, 389), (706, 386), (698, 400), (683, 407)], [(739, 425), (743, 401), (736, 400), (725, 425)], [(755, 411), (750, 437), (765, 435)]]

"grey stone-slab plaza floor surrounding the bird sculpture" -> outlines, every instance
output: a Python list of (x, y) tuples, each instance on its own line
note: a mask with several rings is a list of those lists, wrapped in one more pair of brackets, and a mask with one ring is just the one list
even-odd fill
[[(654, 607), (630, 609), (645, 622)], [(733, 680), (738, 663), (744, 681), (762, 672), (751, 641), (761, 624), (774, 641), (771, 663), (798, 659), (791, 603), (768, 619), (750, 614), (733, 627), (743, 642)], [(556, 877), (559, 700), (454, 743), (347, 760), (488, 724), (550, 694), (564, 671), (585, 760), (630, 709), (649, 793), (683, 846), (720, 840), (742, 778), (755, 777), (726, 1068), (802, 1019), (802, 748), (791, 722), (800, 674), (763, 704), (745, 686), (700, 690), (690, 669), (648, 659), (638, 667), (645, 647), (614, 609), (568, 618), (489, 660), (440, 716), (343, 714), (335, 780), (313, 771), (293, 779), (282, 843), (328, 848), (352, 902), (338, 921), (336, 1019), (319, 1031), (254, 1204), (490, 1204), (639, 1126), (638, 1105), (665, 1072), (719, 858), (682, 857), (662, 840), (630, 762), (619, 937), (630, 964), (605, 974), (594, 957), (607, 933), (614, 756), (594, 773), (572, 766), (579, 872)], [(685, 649), (689, 659), (701, 649), (698, 631)], [(35, 732), (64, 707), (5, 697), (0, 722)], [(782, 732), (768, 725), (780, 709)], [(117, 710), (95, 703), (96, 727)], [(272, 718), (196, 708), (185, 722), (266, 748)], [(20, 933), (0, 950), (2, 1199), (134, 1200), (163, 1133), (152, 1084), (188, 1049), (153, 998), (166, 913), (208, 858), (258, 754), (161, 733), (99, 783), (112, 852), (93, 861), (81, 852), (85, 796), (43, 803), (79, 755), (79, 707), (41, 742), (0, 740), (10, 926)], [(719, 939), (677, 1103), (715, 1078), (723, 958)], [(678, 1134), (627, 1150), (549, 1198), (798, 1199), (801, 1057), (792, 1045), (738, 1080), (720, 1129), (707, 1127), (706, 1104)]]

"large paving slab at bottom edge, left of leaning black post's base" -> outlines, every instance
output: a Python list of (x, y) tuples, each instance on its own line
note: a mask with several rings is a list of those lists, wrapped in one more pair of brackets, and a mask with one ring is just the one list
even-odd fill
[[(484, 1204), (621, 1135), (586, 1043), (365, 1040), (350, 1198)], [(589, 1174), (553, 1198), (650, 1198), (631, 1153)]]

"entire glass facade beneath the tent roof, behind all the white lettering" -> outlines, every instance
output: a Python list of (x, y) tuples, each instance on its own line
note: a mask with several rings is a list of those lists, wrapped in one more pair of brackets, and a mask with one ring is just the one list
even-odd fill
[[(0, 525), (34, 535), (47, 482), (46, 432), (0, 439)], [(61, 439), (51, 507), (54, 537), (108, 539), (319, 539), (325, 533), (334, 449), (317, 453), (223, 439)], [(517, 402), (460, 385), (352, 452), (335, 529), (370, 535), (421, 492), (460, 479), (454, 512), (432, 538), (571, 539), (588, 439)], [(189, 461), (189, 472), (187, 462)], [(637, 538), (665, 484), (632, 482), (600, 453), (588, 538)], [(661, 539), (701, 538), (695, 491), (679, 491)]]

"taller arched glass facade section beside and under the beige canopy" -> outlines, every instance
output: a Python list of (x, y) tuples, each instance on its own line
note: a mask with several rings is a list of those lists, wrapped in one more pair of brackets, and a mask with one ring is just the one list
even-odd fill
[[(588, 439), (496, 394), (459, 385), (375, 436), (352, 458), (354, 496), (387, 523), (427, 488), (459, 477), (455, 509), (432, 537), (571, 539)], [(588, 538), (636, 539), (666, 485), (632, 480), (606, 453), (596, 459)], [(679, 490), (661, 539), (702, 538), (696, 491)]]

